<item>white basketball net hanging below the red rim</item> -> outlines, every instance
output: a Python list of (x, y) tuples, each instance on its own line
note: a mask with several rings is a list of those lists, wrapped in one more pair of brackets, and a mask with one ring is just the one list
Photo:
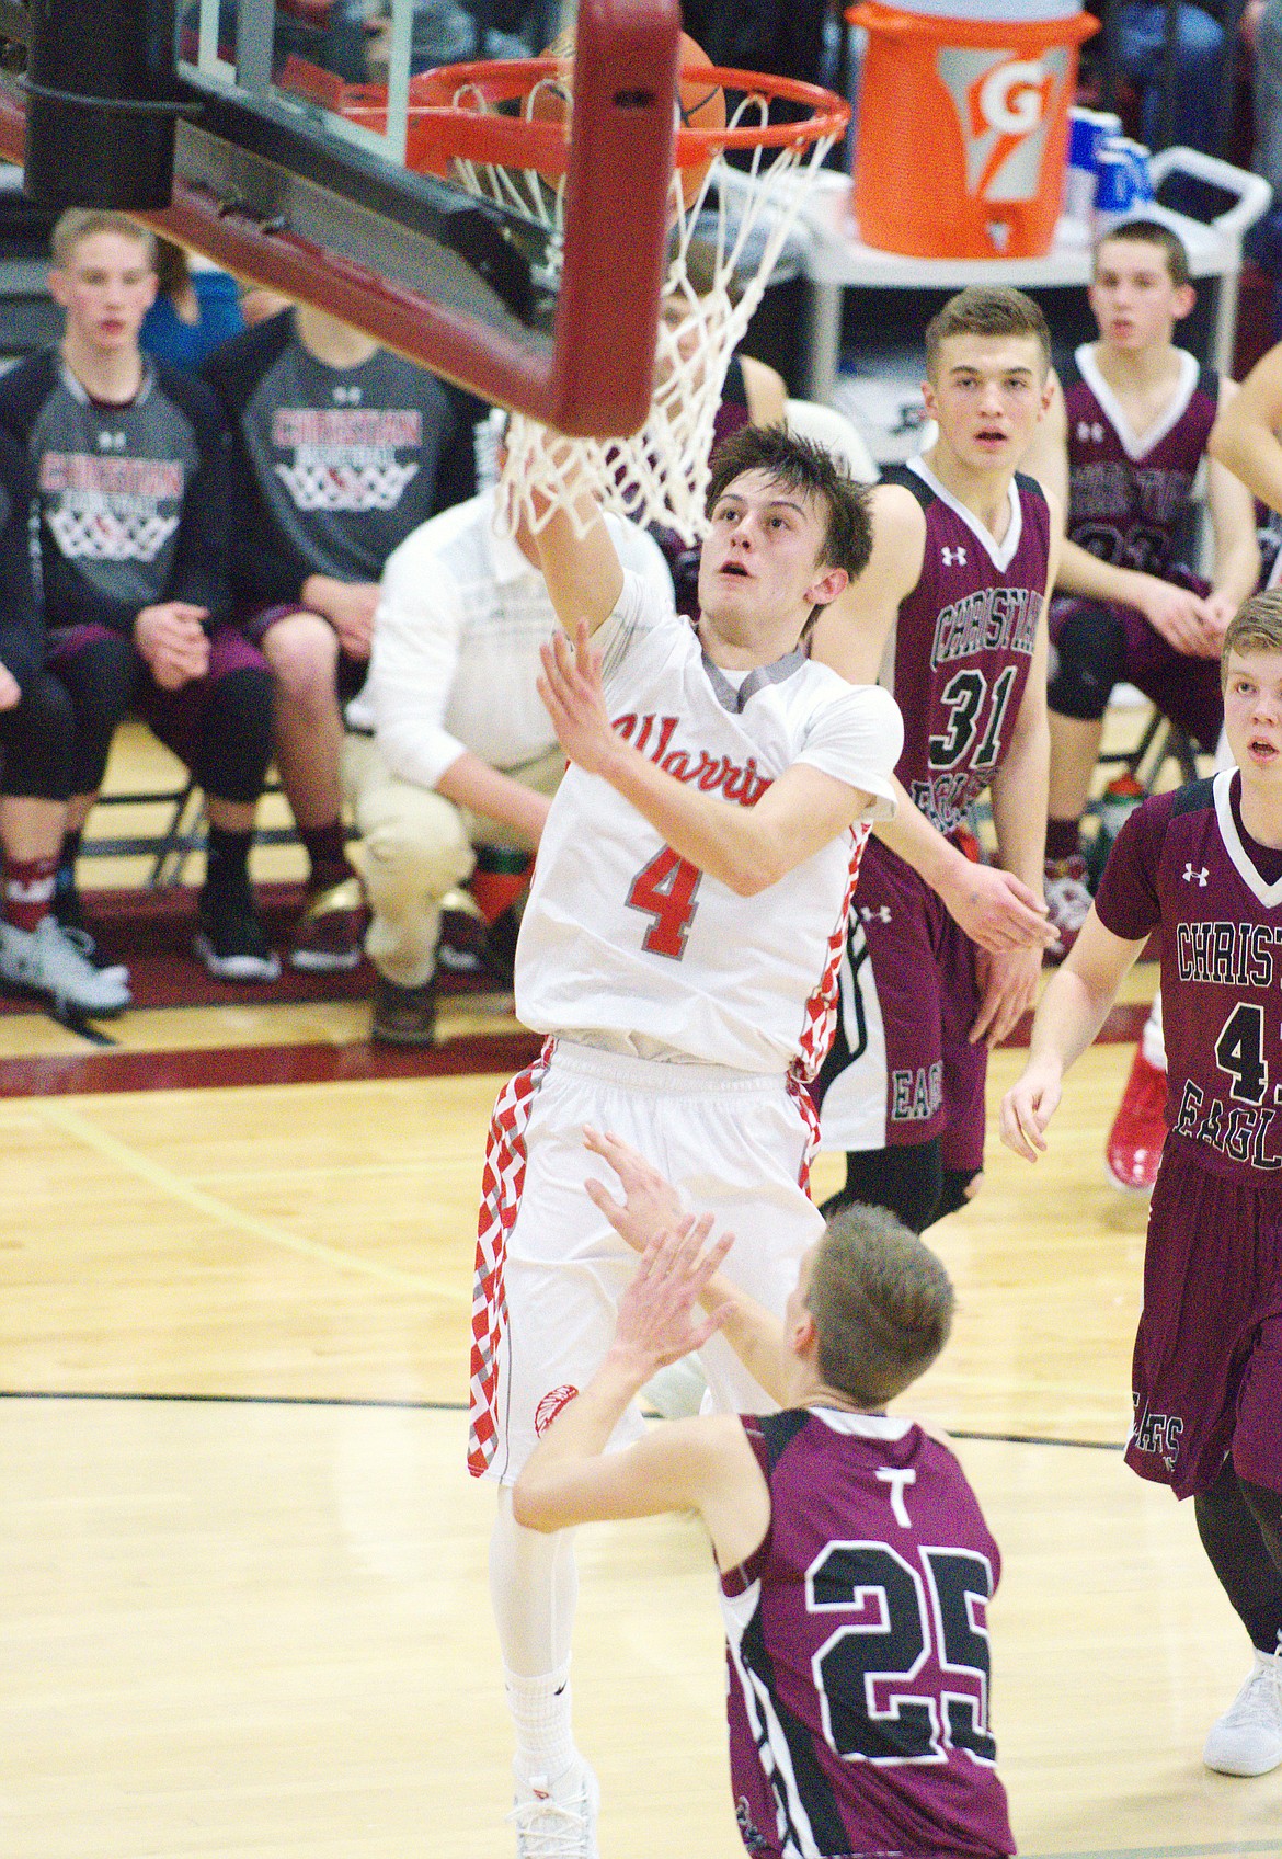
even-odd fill
[[(556, 86), (557, 80), (543, 82)], [(535, 86), (526, 100), (528, 117), (541, 87)], [(483, 99), (474, 100), (474, 95), (464, 87), (455, 102), (483, 106)], [(767, 121), (765, 97), (747, 95), (730, 112), (726, 128), (764, 128)], [(730, 355), (797, 221), (805, 180), (821, 165), (832, 139), (780, 149), (758, 145), (747, 169), (730, 167), (715, 156), (691, 201), (682, 195), (680, 173), (673, 175), (673, 257), (661, 292), (650, 415), (630, 439), (567, 439), (515, 413), (505, 437), (496, 519), (507, 534), (515, 534), (522, 519), (537, 532), (557, 509), (574, 515), (576, 504), (585, 511), (583, 522), (589, 521), (591, 504), (583, 493), (591, 493), (596, 506), (643, 526), (676, 530), (686, 543), (704, 534), (713, 420)], [(533, 169), (489, 162), (455, 162), (453, 177), (472, 193), (533, 221), (548, 236), (556, 271), (563, 178), (550, 182)], [(712, 227), (708, 221), (713, 221)], [(712, 279), (702, 296), (691, 283), (695, 236), (697, 275), (700, 284)], [(578, 526), (580, 517), (574, 521)]]

